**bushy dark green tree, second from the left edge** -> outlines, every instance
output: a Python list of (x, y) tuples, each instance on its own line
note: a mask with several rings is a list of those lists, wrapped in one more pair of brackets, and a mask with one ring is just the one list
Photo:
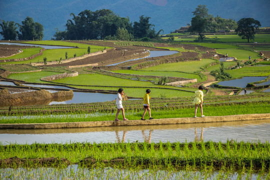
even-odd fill
[(18, 38), (20, 40), (42, 40), (43, 38), (43, 25), (34, 22), (32, 17), (27, 16), (24, 21), (19, 25)]

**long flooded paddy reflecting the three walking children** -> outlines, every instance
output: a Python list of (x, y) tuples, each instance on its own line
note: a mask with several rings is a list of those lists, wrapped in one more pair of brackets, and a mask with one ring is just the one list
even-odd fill
[(270, 140), (270, 119), (215, 123), (112, 126), (63, 129), (0, 130), (0, 141), (8, 143), (69, 142), (185, 142), (212, 140), (225, 142)]

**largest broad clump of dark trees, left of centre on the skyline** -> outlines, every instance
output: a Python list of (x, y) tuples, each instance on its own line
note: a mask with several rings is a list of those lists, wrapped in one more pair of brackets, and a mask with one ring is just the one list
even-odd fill
[[(65, 39), (104, 39), (106, 36), (116, 35), (118, 28), (131, 29), (129, 19), (119, 17), (109, 9), (96, 11), (84, 10), (75, 14), (66, 22), (66, 31), (57, 32), (55, 37), (65, 34)], [(61, 36), (60, 36), (61, 37)]]

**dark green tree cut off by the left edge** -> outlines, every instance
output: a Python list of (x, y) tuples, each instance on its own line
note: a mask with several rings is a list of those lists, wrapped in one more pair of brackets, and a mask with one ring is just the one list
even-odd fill
[(14, 21), (4, 21), (0, 20), (0, 27), (1, 31), (0, 34), (3, 36), (3, 40), (16, 40), (17, 38), (17, 27), (15, 25), (18, 25)]

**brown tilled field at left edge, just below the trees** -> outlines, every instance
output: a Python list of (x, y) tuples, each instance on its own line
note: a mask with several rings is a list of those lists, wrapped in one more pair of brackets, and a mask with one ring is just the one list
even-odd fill
[(0, 44), (0, 57), (11, 56), (19, 53), (19, 49), (31, 48), (32, 46), (27, 45), (6, 45)]

